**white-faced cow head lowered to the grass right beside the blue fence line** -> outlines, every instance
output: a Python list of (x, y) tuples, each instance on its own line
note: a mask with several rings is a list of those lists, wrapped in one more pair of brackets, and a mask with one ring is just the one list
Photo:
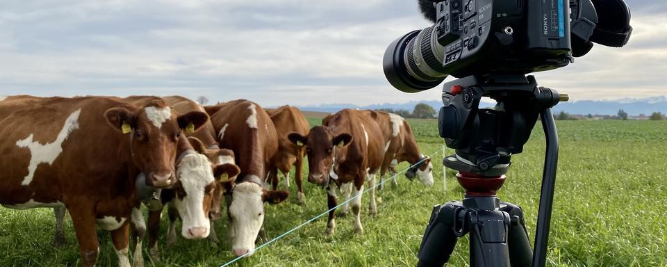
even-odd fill
[(231, 248), (236, 256), (254, 253), (255, 240), (264, 223), (264, 203), (278, 204), (290, 195), (288, 191), (268, 191), (260, 185), (261, 179), (249, 176), (236, 185), (227, 185), (233, 188), (227, 212)]

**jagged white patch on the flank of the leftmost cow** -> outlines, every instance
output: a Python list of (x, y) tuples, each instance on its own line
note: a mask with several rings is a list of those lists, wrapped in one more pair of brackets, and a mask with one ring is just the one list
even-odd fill
[(53, 143), (46, 143), (44, 145), (33, 141), (33, 134), (23, 140), (18, 140), (16, 142), (17, 147), (27, 147), (30, 149), (30, 165), (28, 165), (28, 175), (24, 177), (23, 182), (21, 183), (24, 186), (30, 184), (33, 181), (33, 176), (35, 175), (35, 170), (40, 163), (47, 163), (49, 165), (53, 164), (53, 161), (58, 158), (58, 155), (63, 152), (63, 142), (67, 140), (69, 134), (72, 131), (79, 129), (79, 115), (81, 115), (81, 109), (74, 111), (72, 114), (67, 117), (63, 129), (58, 133), (58, 137)]

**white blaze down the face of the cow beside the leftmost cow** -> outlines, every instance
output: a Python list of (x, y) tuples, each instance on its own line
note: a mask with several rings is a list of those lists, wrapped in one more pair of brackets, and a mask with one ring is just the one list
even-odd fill
[[(174, 197), (174, 205), (181, 215), (183, 237), (206, 238), (211, 229), (208, 214), (204, 214), (204, 194), (206, 186), (215, 181), (211, 162), (202, 154), (184, 156), (176, 170), (176, 177), (181, 181), (186, 196), (183, 199)], [(191, 232), (203, 229), (203, 236), (192, 236)]]

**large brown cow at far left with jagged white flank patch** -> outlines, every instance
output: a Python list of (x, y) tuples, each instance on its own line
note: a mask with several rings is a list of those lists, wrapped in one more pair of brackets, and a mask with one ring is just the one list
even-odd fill
[[(199, 168), (205, 161), (188, 152), (181, 129), (199, 129), (206, 120), (206, 113), (177, 115), (160, 101), (139, 108), (114, 97), (3, 99), (0, 204), (66, 207), (83, 266), (97, 261), (97, 226), (111, 232), (119, 266), (130, 266), (129, 219), (140, 214), (138, 175), (146, 174), (144, 186), (166, 188), (178, 183), (180, 172)], [(200, 227), (183, 235), (205, 237)]]

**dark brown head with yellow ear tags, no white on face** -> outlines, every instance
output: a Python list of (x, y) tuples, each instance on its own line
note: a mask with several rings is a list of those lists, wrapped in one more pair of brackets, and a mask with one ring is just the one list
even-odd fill
[(340, 133), (334, 136), (334, 133), (328, 127), (315, 126), (308, 133), (308, 136), (302, 136), (300, 133), (290, 133), (288, 138), (298, 147), (306, 147), (308, 154), (308, 181), (320, 186), (329, 184), (329, 179), (334, 173), (334, 160), (336, 159), (336, 149), (343, 149), (352, 143), (352, 135), (349, 133)]

